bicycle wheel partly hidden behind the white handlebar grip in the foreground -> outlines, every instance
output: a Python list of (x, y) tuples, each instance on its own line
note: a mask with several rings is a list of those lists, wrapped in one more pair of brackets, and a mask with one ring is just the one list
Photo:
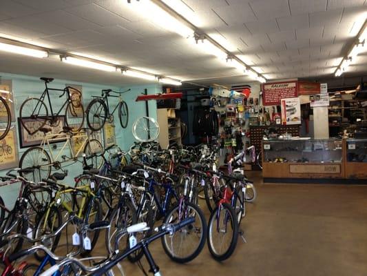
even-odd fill
[[(137, 221), (138, 223), (146, 222), (147, 226), (149, 227), (149, 230), (135, 234), (137, 242), (140, 242), (145, 237), (149, 237), (151, 233), (153, 232), (154, 213), (153, 213), (153, 209), (151, 208), (150, 201), (145, 201), (143, 203), (142, 209), (137, 214), (137, 219), (138, 219)], [(139, 259), (141, 259), (141, 257), (143, 257), (143, 255), (144, 255), (143, 249), (140, 248), (139, 250), (136, 250), (134, 253), (127, 256), (127, 258), (129, 259), (130, 262), (137, 262)]]

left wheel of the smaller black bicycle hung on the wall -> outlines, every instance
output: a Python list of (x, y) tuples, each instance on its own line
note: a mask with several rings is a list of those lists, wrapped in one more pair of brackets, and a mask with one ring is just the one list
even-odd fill
[(87, 106), (87, 125), (93, 131), (98, 131), (105, 125), (107, 106), (103, 99), (93, 99)]

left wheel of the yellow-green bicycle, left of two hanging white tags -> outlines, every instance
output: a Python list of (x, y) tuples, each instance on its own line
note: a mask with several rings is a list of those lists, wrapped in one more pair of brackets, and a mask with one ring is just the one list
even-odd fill
[[(34, 238), (39, 238), (43, 235), (54, 233), (61, 226), (61, 224), (63, 224), (61, 211), (56, 206), (53, 206), (49, 209), (49, 211), (46, 210), (41, 219), (39, 219), (39, 222), (36, 226), (36, 231), (34, 233)], [(59, 244), (60, 237), (61, 234), (56, 235), (55, 237), (44, 240), (41, 244), (49, 248), (51, 251), (54, 251), (56, 246)], [(45, 253), (43, 253), (41, 250), (38, 250), (34, 253), (34, 257), (36, 257), (39, 262), (41, 262), (45, 256)]]

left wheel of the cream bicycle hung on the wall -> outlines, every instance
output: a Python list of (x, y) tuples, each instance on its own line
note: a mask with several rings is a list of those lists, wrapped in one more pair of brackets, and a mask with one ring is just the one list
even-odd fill
[(19, 168), (33, 168), (33, 172), (21, 172), (21, 176), (34, 182), (40, 182), (43, 178), (48, 178), (51, 173), (51, 158), (48, 152), (41, 147), (33, 147), (25, 150), (19, 161)]

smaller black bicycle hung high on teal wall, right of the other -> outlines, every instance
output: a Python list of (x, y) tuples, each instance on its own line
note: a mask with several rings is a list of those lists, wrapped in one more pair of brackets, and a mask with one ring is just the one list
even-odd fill
[[(129, 90), (117, 92), (112, 89), (106, 89), (102, 90), (101, 97), (92, 96), (94, 99), (88, 104), (86, 111), (88, 127), (91, 130), (97, 131), (103, 128), (107, 120), (109, 123), (112, 123), (114, 121), (114, 112), (118, 109), (118, 118), (120, 119), (121, 127), (126, 128), (129, 121), (129, 109), (127, 108), (127, 103), (123, 101), (121, 94)], [(110, 95), (111, 92), (118, 94), (118, 96)], [(109, 111), (109, 97), (118, 98), (118, 104), (112, 112)]]

